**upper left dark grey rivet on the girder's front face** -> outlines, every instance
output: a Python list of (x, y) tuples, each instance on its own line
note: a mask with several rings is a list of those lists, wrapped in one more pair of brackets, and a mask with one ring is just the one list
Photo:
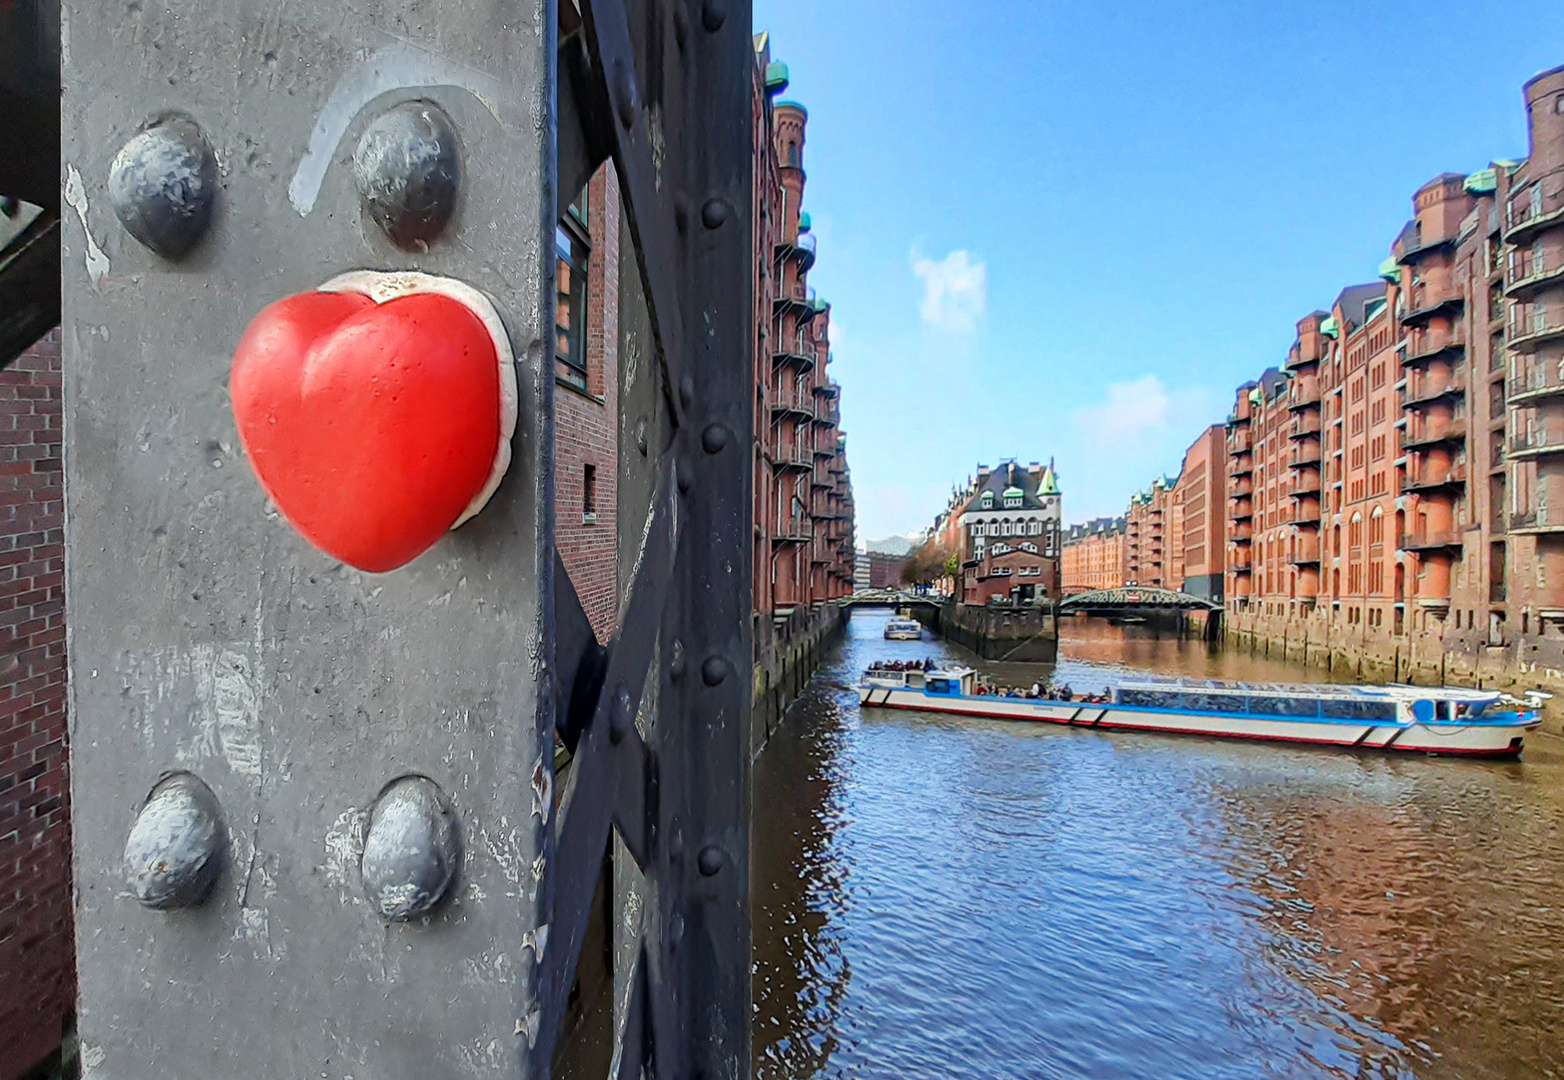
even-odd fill
[(158, 120), (120, 147), (108, 200), (125, 231), (166, 259), (196, 247), (211, 224), (217, 158), (196, 120)]

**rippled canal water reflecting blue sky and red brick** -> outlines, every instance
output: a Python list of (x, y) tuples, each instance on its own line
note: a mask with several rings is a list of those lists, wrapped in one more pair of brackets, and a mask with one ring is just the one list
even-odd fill
[[(871, 660), (960, 655), (884, 620), (854, 614), (755, 764), (757, 1077), (1564, 1075), (1564, 741), (1492, 764), (860, 713)], [(1318, 678), (1067, 620), (1074, 689), (1145, 671)]]

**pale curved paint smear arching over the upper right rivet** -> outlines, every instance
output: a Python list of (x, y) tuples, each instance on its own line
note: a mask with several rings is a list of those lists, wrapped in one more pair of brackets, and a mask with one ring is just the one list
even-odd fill
[(288, 202), (307, 217), (321, 195), (321, 183), (336, 153), (336, 144), (353, 122), (353, 117), (374, 98), (389, 91), (416, 89), (421, 86), (455, 86), (468, 91), (483, 108), (499, 120), (500, 84), (491, 75), (463, 67), (444, 56), (435, 56), (407, 42), (377, 48), (346, 72), (332, 88), (321, 116), (310, 131), (303, 158), (288, 183)]

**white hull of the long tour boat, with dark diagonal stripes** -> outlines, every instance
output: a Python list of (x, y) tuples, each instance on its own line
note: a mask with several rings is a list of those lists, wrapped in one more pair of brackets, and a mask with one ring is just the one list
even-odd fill
[(1031, 697), (943, 697), (921, 689), (859, 686), (859, 703), (871, 708), (909, 708), (921, 713), (984, 716), (1001, 721), (1037, 721), (1103, 730), (1204, 735), (1225, 739), (1309, 742), (1361, 750), (1514, 756), (1537, 721), (1516, 724), (1394, 724), (1387, 721), (1314, 721), (1220, 713), (1165, 711), (1121, 705), (1082, 705)]

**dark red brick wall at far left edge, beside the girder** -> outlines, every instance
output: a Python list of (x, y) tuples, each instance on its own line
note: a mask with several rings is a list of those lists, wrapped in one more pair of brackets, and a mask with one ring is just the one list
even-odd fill
[(75, 1008), (59, 331), (0, 372), (0, 1080)]

